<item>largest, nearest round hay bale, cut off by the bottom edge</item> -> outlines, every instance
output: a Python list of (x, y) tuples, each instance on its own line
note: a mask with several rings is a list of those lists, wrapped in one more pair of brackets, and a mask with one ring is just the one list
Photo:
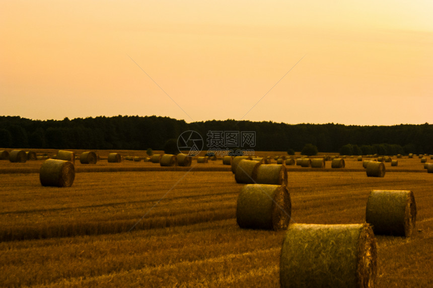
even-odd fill
[(368, 224), (291, 224), (280, 256), (281, 287), (374, 287), (376, 239)]

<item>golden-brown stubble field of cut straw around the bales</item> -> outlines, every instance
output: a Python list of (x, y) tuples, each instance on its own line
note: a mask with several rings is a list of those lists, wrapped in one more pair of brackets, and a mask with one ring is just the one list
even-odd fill
[[(433, 174), (418, 158), (399, 162), (413, 172), (387, 165), (384, 178), (367, 177), (356, 159), (346, 159), (344, 169), (290, 167), (292, 221), (363, 223), (370, 190), (412, 190), (418, 210), (412, 237), (377, 236), (379, 287), (427, 287), (433, 285)], [(0, 161), (0, 168), (41, 163)], [(108, 164), (159, 166), (96, 165)], [(278, 287), (284, 232), (240, 229), (242, 184), (229, 166), (198, 169), (225, 167), (221, 160), (193, 166), (80, 172), (68, 188), (42, 187), (37, 173), (0, 174), (0, 286)]]

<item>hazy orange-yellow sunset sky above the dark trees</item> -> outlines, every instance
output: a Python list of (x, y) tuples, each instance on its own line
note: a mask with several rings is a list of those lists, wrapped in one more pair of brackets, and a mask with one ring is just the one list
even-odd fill
[(3, 0), (0, 37), (3, 116), (433, 123), (431, 0)]

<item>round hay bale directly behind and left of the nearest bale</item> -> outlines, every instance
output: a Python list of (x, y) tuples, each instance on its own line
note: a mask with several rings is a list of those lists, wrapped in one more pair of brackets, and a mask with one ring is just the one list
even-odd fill
[(284, 230), (291, 215), (292, 202), (286, 186), (247, 184), (242, 187), (236, 208), (239, 227)]

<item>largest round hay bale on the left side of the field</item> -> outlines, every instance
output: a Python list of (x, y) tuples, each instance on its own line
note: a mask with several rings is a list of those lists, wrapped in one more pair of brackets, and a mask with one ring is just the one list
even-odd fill
[(70, 187), (74, 178), (74, 164), (66, 160), (47, 159), (39, 172), (42, 186)]

